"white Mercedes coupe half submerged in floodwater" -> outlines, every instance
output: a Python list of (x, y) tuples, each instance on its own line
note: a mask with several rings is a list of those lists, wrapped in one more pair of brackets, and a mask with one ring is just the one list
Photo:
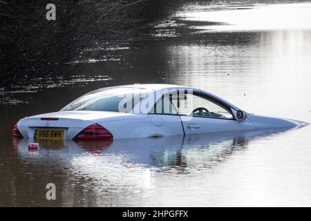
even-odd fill
[(197, 88), (133, 84), (94, 90), (58, 112), (25, 117), (12, 132), (37, 140), (100, 140), (307, 125), (246, 113)]

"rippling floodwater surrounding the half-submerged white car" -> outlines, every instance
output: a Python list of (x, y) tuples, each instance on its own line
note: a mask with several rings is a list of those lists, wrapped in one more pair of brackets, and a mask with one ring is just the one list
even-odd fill
[[(195, 86), (249, 113), (310, 123), (310, 21), (310, 3), (185, 6), (158, 39), (73, 61), (84, 66), (62, 84), (2, 95), (0, 206), (311, 206), (311, 126), (43, 143), (38, 152), (11, 136), (21, 117), (134, 83)], [(46, 200), (48, 183), (56, 200)]]

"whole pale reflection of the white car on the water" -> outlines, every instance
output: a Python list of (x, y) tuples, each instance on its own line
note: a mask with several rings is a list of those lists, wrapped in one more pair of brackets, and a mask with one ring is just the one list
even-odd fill
[(114, 190), (120, 188), (133, 194), (152, 188), (154, 182), (159, 182), (162, 177), (160, 173), (169, 177), (175, 173), (193, 174), (200, 173), (202, 169), (209, 170), (226, 160), (235, 149), (243, 151), (252, 140), (286, 130), (277, 128), (109, 142), (63, 140), (57, 144), (40, 144), (35, 155), (28, 152), (28, 144), (35, 140), (23, 138), (15, 140), (15, 148), (21, 162), (30, 164), (31, 168), (52, 166), (68, 173), (67, 177), (71, 179), (73, 176), (88, 180), (86, 183), (101, 193), (112, 189), (109, 194), (114, 195)]

